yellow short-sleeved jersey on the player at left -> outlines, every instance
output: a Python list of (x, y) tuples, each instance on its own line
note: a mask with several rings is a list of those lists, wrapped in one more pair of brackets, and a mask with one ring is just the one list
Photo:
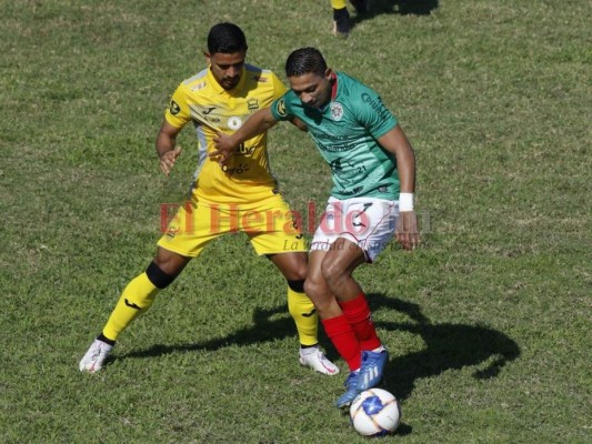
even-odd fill
[(249, 115), (270, 107), (285, 91), (272, 71), (250, 64), (244, 64), (241, 80), (232, 90), (224, 90), (210, 68), (177, 88), (164, 118), (175, 128), (190, 121), (195, 128), (199, 153), (193, 193), (200, 202), (249, 206), (278, 192), (268, 158), (267, 132), (241, 144), (223, 168), (208, 154), (214, 151), (212, 139), (217, 130), (232, 133)]

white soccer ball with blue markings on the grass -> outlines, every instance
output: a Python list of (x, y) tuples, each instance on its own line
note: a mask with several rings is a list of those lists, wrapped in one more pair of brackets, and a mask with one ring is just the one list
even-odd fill
[(353, 428), (363, 436), (383, 436), (394, 432), (401, 418), (399, 401), (382, 389), (360, 393), (351, 403)]

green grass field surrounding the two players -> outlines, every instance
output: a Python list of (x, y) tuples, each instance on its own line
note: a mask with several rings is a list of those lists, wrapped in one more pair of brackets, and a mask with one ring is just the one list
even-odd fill
[[(367, 442), (333, 407), (344, 374), (298, 364), (284, 282), (242, 235), (190, 264), (104, 372), (78, 371), (155, 251), (160, 204), (184, 198), (192, 131), (170, 178), (153, 141), (219, 21), (282, 79), (318, 47), (415, 149), (424, 245), (357, 272), (402, 403), (383, 441), (592, 442), (590, 17), (581, 0), (374, 0), (343, 40), (325, 0), (0, 0), (0, 442)], [(311, 140), (278, 125), (271, 157), (294, 209), (323, 208)]]

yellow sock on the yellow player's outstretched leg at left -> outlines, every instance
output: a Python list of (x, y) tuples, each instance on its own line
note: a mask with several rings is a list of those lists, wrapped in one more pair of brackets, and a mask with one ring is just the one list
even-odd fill
[(117, 341), (119, 334), (138, 317), (140, 313), (146, 312), (154, 302), (159, 289), (150, 282), (146, 273), (133, 279), (117, 303), (111, 316), (103, 329), (103, 335)]

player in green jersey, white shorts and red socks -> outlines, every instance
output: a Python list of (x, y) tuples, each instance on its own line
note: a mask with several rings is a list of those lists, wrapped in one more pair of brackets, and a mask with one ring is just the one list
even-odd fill
[(330, 165), (333, 189), (311, 242), (304, 291), (350, 369), (345, 393), (337, 401), (338, 407), (345, 407), (381, 382), (389, 360), (352, 274), (372, 262), (393, 234), (405, 250), (420, 244), (413, 211), (415, 158), (378, 93), (328, 68), (317, 49), (293, 51), (285, 74), (291, 90), (233, 134), (219, 133), (211, 155), (228, 162), (244, 140), (278, 121), (298, 118)]

